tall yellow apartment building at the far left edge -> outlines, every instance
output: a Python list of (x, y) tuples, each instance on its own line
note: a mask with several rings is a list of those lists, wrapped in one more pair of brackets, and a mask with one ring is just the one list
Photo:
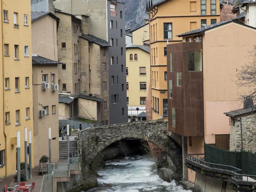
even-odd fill
[(0, 177), (4, 177), (16, 172), (16, 132), (21, 136), (21, 162), (24, 127), (33, 134), (30, 0), (2, 0), (1, 11)]

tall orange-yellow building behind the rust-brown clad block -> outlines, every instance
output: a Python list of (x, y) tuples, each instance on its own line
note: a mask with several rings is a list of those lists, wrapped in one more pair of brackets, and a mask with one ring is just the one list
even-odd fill
[[(154, 0), (148, 2), (151, 65), (151, 118), (168, 120), (167, 44), (182, 42), (176, 35), (220, 21), (219, 0)], [(148, 113), (147, 113), (148, 114)], [(149, 113), (150, 114), (150, 113)], [(147, 115), (147, 119), (150, 117)]]

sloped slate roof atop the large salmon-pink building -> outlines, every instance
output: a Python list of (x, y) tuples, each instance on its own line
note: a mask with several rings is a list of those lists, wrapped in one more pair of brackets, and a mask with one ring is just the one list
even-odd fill
[(192, 30), (192, 31), (188, 31), (188, 32), (182, 33), (182, 34), (177, 35), (177, 36), (178, 37), (183, 37), (183, 36), (187, 36), (187, 35), (194, 35), (194, 34), (204, 33), (204, 31), (211, 30), (213, 28), (225, 25), (225, 24), (230, 23), (230, 22), (234, 22), (236, 24), (243, 25), (243, 26), (246, 26), (246, 27), (249, 27), (249, 28), (252, 28), (252, 29), (256, 29), (256, 28), (254, 28), (252, 26), (245, 25), (245, 24), (243, 24), (241, 22), (237, 22), (235, 20), (236, 20), (236, 18), (232, 19), (232, 20), (222, 21), (222, 22), (215, 23), (215, 24), (212, 24), (212, 25), (208, 25), (208, 26), (205, 26), (205, 27), (202, 27), (202, 28), (198, 28), (198, 29), (195, 29), (195, 30)]

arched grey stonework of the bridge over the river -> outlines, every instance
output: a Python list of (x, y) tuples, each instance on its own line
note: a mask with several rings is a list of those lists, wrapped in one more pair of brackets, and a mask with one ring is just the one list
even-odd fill
[(142, 121), (90, 127), (79, 131), (77, 143), (83, 176), (89, 174), (90, 165), (104, 148), (125, 138), (137, 138), (151, 142), (165, 151), (173, 162), (173, 169), (182, 177), (180, 138), (170, 134), (167, 125), (167, 121)]

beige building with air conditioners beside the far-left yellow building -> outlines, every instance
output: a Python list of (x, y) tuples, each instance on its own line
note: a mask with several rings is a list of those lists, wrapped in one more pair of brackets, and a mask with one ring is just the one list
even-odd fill
[(34, 159), (48, 155), (48, 127), (52, 135), (52, 162), (59, 161), (58, 48), (59, 18), (49, 11), (32, 11)]

